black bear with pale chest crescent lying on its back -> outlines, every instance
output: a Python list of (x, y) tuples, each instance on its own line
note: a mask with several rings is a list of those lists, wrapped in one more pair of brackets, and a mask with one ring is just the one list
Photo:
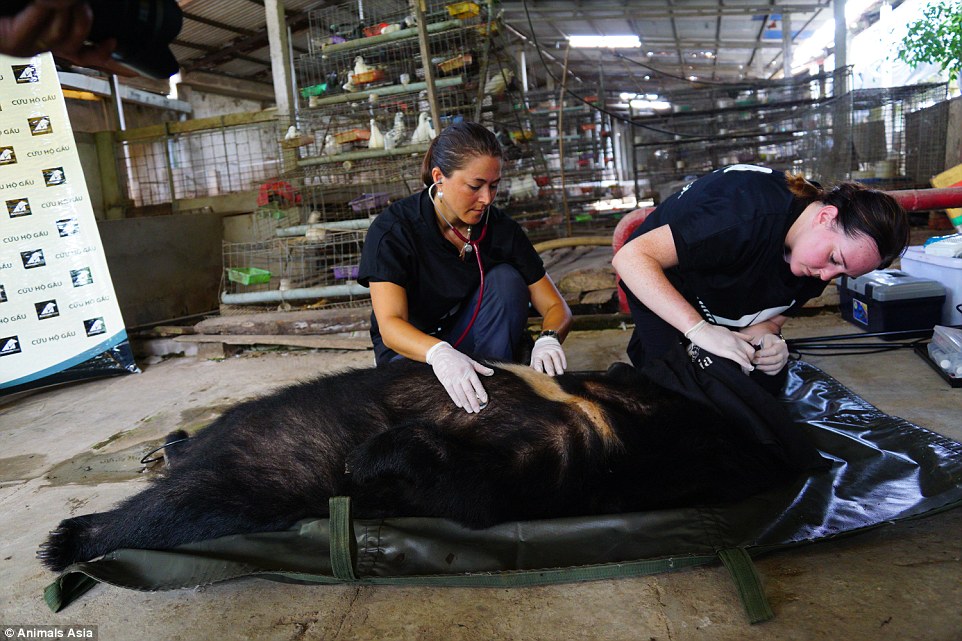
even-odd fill
[(62, 521), (38, 557), (60, 571), (118, 548), (281, 530), (327, 516), (338, 495), (359, 518), (484, 528), (732, 501), (797, 474), (732, 419), (633, 371), (493, 366), (478, 414), (413, 362), (241, 403), (169, 445), (166, 471), (139, 494)]

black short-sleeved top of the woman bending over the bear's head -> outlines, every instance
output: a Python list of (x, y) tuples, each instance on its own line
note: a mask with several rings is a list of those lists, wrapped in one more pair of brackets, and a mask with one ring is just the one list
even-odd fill
[(668, 225), (678, 253), (668, 280), (708, 321), (748, 327), (791, 314), (825, 289), (818, 278), (793, 275), (785, 260), (785, 237), (801, 211), (782, 172), (732, 165), (667, 198), (629, 241)]

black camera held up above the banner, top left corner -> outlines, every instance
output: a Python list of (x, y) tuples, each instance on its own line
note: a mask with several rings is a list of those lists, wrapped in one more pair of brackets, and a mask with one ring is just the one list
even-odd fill
[[(0, 15), (14, 15), (31, 0), (4, 0)], [(117, 40), (113, 58), (152, 78), (169, 78), (180, 65), (170, 43), (180, 33), (183, 15), (177, 0), (87, 0), (93, 12), (89, 40)]]

